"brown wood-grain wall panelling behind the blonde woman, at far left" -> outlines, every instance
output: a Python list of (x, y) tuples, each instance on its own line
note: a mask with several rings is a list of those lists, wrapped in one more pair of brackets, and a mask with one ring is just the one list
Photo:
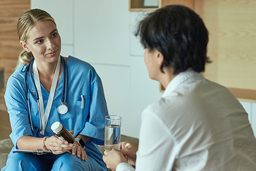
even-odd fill
[[(0, 1), (0, 67), (4, 68), (5, 87), (12, 74), (20, 52), (19, 40), (16, 33), (18, 17), (30, 9), (30, 0), (1, 0)], [(0, 90), (0, 111), (6, 112), (4, 102), (5, 88)], [(3, 113), (0, 113), (1, 118)], [(9, 119), (7, 119), (9, 120)], [(9, 122), (5, 122), (9, 129)], [(2, 123), (0, 124), (2, 125)], [(8, 130), (8, 129), (5, 129)], [(2, 127), (1, 127), (1, 132)], [(9, 129), (10, 131), (10, 129)], [(9, 132), (8, 132), (9, 134)]]

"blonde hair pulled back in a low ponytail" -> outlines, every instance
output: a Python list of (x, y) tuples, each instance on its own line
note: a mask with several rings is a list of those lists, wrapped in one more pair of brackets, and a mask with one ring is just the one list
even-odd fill
[[(20, 15), (17, 23), (17, 33), (19, 40), (27, 42), (28, 33), (30, 29), (35, 25), (36, 22), (45, 22), (51, 20), (55, 25), (53, 17), (44, 10), (41, 9), (32, 9), (22, 15)], [(31, 52), (27, 52), (24, 48), (18, 56), (18, 61), (15, 70), (22, 64), (28, 65), (34, 59), (34, 56)]]

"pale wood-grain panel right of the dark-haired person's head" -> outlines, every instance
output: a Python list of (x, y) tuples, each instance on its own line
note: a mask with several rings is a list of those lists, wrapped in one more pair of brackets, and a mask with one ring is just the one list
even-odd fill
[(196, 0), (195, 6), (209, 31), (213, 61), (204, 76), (236, 90), (238, 98), (256, 99), (256, 1)]

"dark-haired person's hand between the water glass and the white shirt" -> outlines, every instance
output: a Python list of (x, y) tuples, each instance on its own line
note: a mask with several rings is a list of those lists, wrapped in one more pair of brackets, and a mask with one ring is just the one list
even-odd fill
[(136, 145), (131, 144), (130, 142), (121, 142), (120, 143), (120, 152), (123, 154), (127, 162), (131, 165), (136, 164), (136, 152), (138, 151), (138, 147)]

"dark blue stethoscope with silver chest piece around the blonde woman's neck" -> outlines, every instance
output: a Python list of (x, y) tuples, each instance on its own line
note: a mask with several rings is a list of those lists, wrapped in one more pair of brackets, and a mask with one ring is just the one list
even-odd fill
[[(68, 106), (66, 105), (67, 103), (67, 66), (66, 66), (66, 61), (65, 59), (60, 56), (60, 60), (61, 60), (61, 63), (62, 63), (62, 68), (63, 68), (63, 87), (62, 87), (62, 93), (61, 93), (61, 104), (58, 106), (57, 108), (57, 111), (59, 114), (61, 115), (64, 115), (68, 112)], [(29, 98), (28, 98), (28, 87), (27, 87), (27, 72), (30, 70), (30, 76), (31, 78), (33, 79), (33, 75), (32, 75), (32, 70), (31, 70), (31, 67), (33, 66), (33, 63), (34, 63), (34, 60), (32, 60), (28, 66), (24, 66), (25, 67), (25, 76), (24, 76), (24, 82), (25, 82), (25, 89), (26, 89), (26, 99), (27, 99), (27, 102), (28, 102), (28, 108), (29, 108), (29, 118), (30, 118), (30, 123), (31, 123), (31, 129), (33, 131), (41, 131), (42, 130), (42, 119), (41, 119), (41, 111), (40, 111), (40, 103), (39, 103), (39, 95), (38, 95), (38, 91), (36, 89), (36, 86), (35, 86), (35, 81), (33, 81), (33, 84), (34, 84), (34, 88), (35, 88), (35, 91), (33, 91), (33, 93), (35, 94), (35, 98), (36, 98), (36, 101), (37, 101), (37, 106), (38, 106), (38, 112), (39, 112), (39, 117), (40, 117), (40, 129), (35, 126), (33, 127), (33, 124), (32, 124), (32, 118), (31, 118), (31, 111), (30, 111), (30, 104), (29, 104)], [(24, 67), (22, 70), (24, 70)], [(28, 68), (28, 69), (27, 69)], [(35, 128), (35, 130), (34, 130)]]

